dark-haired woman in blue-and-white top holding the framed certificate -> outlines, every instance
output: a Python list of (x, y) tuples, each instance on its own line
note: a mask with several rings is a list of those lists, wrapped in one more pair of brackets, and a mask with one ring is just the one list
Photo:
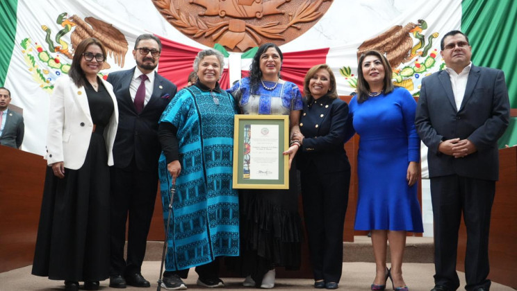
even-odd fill
[[(293, 82), (281, 80), (284, 56), (275, 44), (259, 47), (249, 70), (229, 91), (243, 114), (289, 115), (290, 133), (299, 132), (302, 94)], [(299, 143), (284, 155), (293, 161)], [(290, 164), (288, 190), (240, 191), (241, 270), (245, 286), (273, 288), (274, 267), (297, 269), (300, 265), (301, 221), (299, 186), (294, 161)]]

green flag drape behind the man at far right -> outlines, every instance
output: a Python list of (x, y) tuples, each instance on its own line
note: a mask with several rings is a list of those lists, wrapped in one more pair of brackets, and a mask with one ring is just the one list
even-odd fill
[[(463, 0), (461, 31), (472, 46), (476, 66), (502, 69), (511, 108), (517, 108), (517, 1)], [(499, 148), (517, 144), (517, 118), (510, 118)]]

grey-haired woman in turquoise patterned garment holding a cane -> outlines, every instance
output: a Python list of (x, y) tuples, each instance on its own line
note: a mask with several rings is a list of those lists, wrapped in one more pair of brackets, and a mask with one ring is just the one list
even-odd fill
[[(211, 49), (194, 60), (195, 85), (179, 91), (163, 112), (159, 175), (165, 222), (176, 185), (162, 286), (184, 290), (190, 267), (197, 285), (222, 287), (220, 256), (238, 256), (238, 193), (232, 188), (233, 97), (220, 89), (223, 55)], [(165, 226), (166, 229), (167, 226)]]

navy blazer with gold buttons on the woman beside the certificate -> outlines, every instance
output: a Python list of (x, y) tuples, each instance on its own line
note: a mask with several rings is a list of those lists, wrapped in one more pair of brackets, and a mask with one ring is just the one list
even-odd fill
[(299, 123), (304, 140), (296, 155), (299, 170), (309, 170), (312, 165), (320, 173), (350, 170), (343, 148), (347, 119), (348, 105), (343, 100), (322, 96), (313, 104), (304, 101)]

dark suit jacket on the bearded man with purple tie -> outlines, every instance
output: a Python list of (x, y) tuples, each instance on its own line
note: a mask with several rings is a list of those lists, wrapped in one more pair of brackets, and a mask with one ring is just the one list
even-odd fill
[[(140, 114), (129, 94), (129, 85), (135, 68), (113, 72), (108, 82), (113, 85), (119, 107), (119, 123), (113, 159), (115, 167), (126, 168), (133, 155), (140, 170), (157, 171), (161, 146), (158, 141), (158, 120), (177, 92), (176, 85), (155, 73), (151, 98)], [(167, 96), (168, 94), (168, 96)]]

